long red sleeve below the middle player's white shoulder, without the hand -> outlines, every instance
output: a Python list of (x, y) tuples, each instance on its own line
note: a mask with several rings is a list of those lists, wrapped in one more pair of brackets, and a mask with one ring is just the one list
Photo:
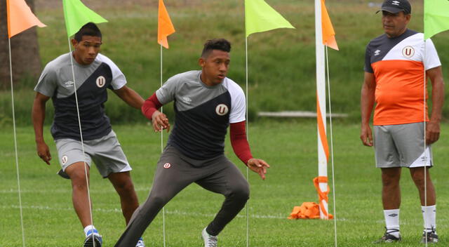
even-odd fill
[(251, 155), (250, 145), (246, 139), (245, 123), (246, 121), (231, 123), (230, 137), (234, 153), (246, 165), (248, 160), (253, 159), (253, 155)]

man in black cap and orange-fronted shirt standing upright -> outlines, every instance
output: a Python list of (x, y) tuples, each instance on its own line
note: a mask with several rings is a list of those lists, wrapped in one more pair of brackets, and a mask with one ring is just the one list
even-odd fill
[[(411, 18), (407, 0), (384, 1), (381, 11), (385, 34), (370, 41), (366, 48), (360, 135), (363, 145), (374, 145), (376, 166), (382, 169), (382, 203), (387, 230), (377, 243), (401, 241), (399, 180), (402, 167), (409, 168), (420, 194), (424, 218), (422, 243), (436, 243), (436, 194), (429, 168), (433, 165), (430, 145), (440, 135), (444, 101), (441, 63), (432, 41), (427, 39), (424, 43), (422, 33), (407, 28)], [(424, 72), (432, 84), (430, 119), (427, 111), (424, 114), (427, 109)], [(373, 142), (369, 123), (374, 102)]]

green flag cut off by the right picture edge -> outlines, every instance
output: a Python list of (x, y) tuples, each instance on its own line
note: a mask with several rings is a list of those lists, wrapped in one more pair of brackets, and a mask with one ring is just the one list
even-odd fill
[(424, 0), (424, 39), (449, 29), (449, 1)]

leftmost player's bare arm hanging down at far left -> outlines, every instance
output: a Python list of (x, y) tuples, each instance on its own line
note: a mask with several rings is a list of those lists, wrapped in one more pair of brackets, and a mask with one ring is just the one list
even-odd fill
[(43, 95), (39, 92), (36, 93), (32, 109), (32, 120), (34, 127), (34, 137), (36, 139), (37, 155), (48, 165), (51, 161), (51, 154), (50, 149), (48, 149), (48, 145), (45, 143), (45, 140), (43, 140), (43, 121), (45, 120), (46, 102), (49, 99), (50, 97), (46, 95)]

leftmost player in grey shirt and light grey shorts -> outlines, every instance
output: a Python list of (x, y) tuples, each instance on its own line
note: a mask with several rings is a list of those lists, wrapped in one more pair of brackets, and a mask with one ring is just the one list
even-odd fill
[[(127, 224), (135, 209), (138, 208), (138, 197), (130, 178), (131, 168), (112, 131), (109, 118), (105, 115), (104, 103), (107, 101), (107, 88), (136, 109), (142, 107), (144, 100), (126, 86), (125, 76), (119, 67), (105, 55), (99, 54), (101, 44), (101, 32), (95, 24), (88, 23), (81, 27), (72, 39), (74, 51), (60, 55), (48, 62), (43, 69), (39, 82), (34, 88), (36, 97), (32, 111), (37, 154), (49, 165), (51, 154), (43, 138), (43, 121), (46, 102), (50, 98), (53, 101), (55, 117), (51, 126), (51, 135), (55, 140), (62, 166), (60, 175), (72, 180), (72, 199), (86, 234), (85, 247), (93, 246), (93, 242), (96, 247), (102, 245), (102, 236), (93, 227), (91, 206), (88, 201), (86, 171), (89, 174), (92, 160), (103, 178), (108, 178), (119, 194)], [(79, 104), (83, 147), (86, 155), (81, 149), (76, 101)], [(88, 165), (86, 170), (84, 162)], [(145, 245), (140, 239), (135, 246)]]

